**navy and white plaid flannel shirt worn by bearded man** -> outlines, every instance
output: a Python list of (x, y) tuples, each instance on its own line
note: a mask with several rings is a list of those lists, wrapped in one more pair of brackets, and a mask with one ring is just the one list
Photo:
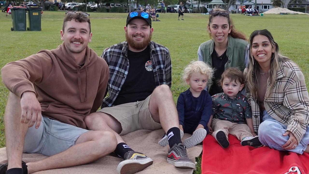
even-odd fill
[[(168, 85), (171, 88), (171, 58), (169, 50), (150, 41), (150, 60), (155, 76), (155, 85)], [(104, 95), (101, 108), (111, 107), (118, 96), (129, 71), (128, 42), (124, 41), (106, 48), (101, 57), (109, 66), (108, 97)]]

